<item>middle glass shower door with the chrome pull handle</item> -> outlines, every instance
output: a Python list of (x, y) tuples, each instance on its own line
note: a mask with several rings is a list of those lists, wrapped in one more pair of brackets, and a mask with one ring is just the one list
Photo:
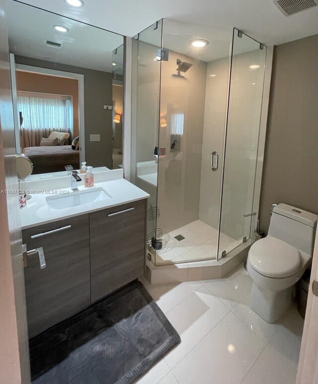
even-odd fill
[(180, 29), (163, 20), (156, 265), (217, 258), (231, 44)]

